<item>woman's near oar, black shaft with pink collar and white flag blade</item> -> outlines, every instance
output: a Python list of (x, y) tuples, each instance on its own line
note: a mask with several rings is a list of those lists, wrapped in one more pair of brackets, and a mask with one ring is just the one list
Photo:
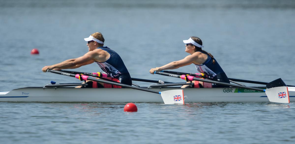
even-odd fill
[[(165, 76), (169, 76), (169, 77), (178, 77), (178, 78), (182, 78), (182, 79), (184, 77), (186, 77), (186, 75), (177, 75), (177, 74), (171, 74), (171, 73), (166, 73), (166, 72), (155, 72), (155, 74), (165, 75)], [(286, 87), (286, 86), (273, 87), (273, 88), (269, 88), (269, 89), (265, 90), (265, 89), (260, 89), (260, 88), (256, 88), (256, 87), (246, 87), (246, 86), (234, 85), (234, 84), (230, 84), (230, 83), (226, 83), (226, 82), (200, 79), (200, 78), (196, 78), (194, 76), (187, 76), (187, 78), (190, 81), (196, 80), (196, 81), (209, 82), (209, 83), (214, 83), (214, 84), (224, 85), (224, 86), (240, 87), (240, 88), (245, 88), (245, 89), (250, 89), (250, 90), (263, 91), (266, 93), (266, 96), (268, 97), (268, 100), (270, 102), (290, 103), (289, 91), (295, 91), (295, 87), (290, 87), (289, 91), (288, 91), (288, 87)], [(274, 81), (277, 81), (277, 80), (274, 80)]]

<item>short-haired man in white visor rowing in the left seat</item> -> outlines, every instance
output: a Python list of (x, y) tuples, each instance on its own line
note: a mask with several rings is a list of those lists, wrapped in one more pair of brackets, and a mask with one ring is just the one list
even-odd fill
[[(84, 40), (87, 41), (86, 45), (89, 47), (89, 52), (75, 59), (68, 59), (58, 64), (45, 66), (42, 68), (42, 71), (46, 72), (47, 69), (75, 69), (96, 62), (99, 67), (108, 74), (108, 77), (110, 77), (109, 79), (112, 81), (132, 85), (130, 74), (123, 60), (117, 52), (108, 47), (104, 47), (104, 37), (100, 32), (95, 32), (88, 38), (84, 38)], [(121, 86), (109, 85), (90, 80), (87, 80), (86, 83), (88, 84), (86, 87), (121, 88)], [(78, 88), (81, 87), (82, 86), (78, 86)]]

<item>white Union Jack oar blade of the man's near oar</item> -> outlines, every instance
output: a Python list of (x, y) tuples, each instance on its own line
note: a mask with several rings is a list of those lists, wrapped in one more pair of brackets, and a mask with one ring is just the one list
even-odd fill
[(183, 90), (166, 90), (161, 96), (165, 104), (184, 104)]

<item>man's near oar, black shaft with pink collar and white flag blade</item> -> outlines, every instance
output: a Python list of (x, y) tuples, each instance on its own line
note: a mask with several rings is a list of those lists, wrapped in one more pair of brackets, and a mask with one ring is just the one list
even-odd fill
[(60, 72), (60, 71), (51, 70), (51, 69), (48, 69), (47, 72), (52, 72), (52, 73), (55, 73), (55, 74), (60, 74), (60, 75), (65, 75), (65, 76), (70, 76), (70, 77), (76, 77), (77, 79), (80, 78), (82, 80), (92, 80), (92, 81), (96, 81), (96, 82), (107, 83), (107, 84), (110, 84), (110, 85), (117, 85), (117, 86), (121, 86), (121, 87), (132, 88), (132, 89), (135, 89), (135, 90), (153, 92), (153, 93), (160, 94), (165, 104), (174, 104), (174, 103), (184, 104), (183, 90), (166, 90), (166, 91), (159, 92), (159, 91), (149, 90), (149, 89), (140, 88), (140, 87), (133, 87), (133, 86), (125, 85), (125, 84), (122, 84), (122, 83), (116, 83), (116, 82), (100, 80), (100, 79), (96, 79), (96, 78), (89, 77), (89, 76), (86, 76), (86, 75), (81, 75), (81, 74), (71, 74), (71, 73), (68, 73), (68, 72)]

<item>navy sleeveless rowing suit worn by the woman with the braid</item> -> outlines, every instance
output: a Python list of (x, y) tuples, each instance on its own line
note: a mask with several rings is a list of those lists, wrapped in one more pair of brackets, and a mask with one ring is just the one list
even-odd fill
[[(204, 53), (204, 52), (201, 52), (201, 53)], [(227, 78), (227, 76), (225, 75), (224, 71), (222, 70), (222, 68), (216, 61), (216, 59), (213, 58), (215, 60), (215, 64), (213, 64), (213, 59), (208, 54), (207, 56), (208, 57), (204, 63), (202, 63), (201, 65), (195, 64), (198, 72), (204, 73), (206, 76), (213, 78), (215, 80), (230, 83), (230, 80)], [(212, 83), (212, 87), (228, 87), (228, 86)]]

